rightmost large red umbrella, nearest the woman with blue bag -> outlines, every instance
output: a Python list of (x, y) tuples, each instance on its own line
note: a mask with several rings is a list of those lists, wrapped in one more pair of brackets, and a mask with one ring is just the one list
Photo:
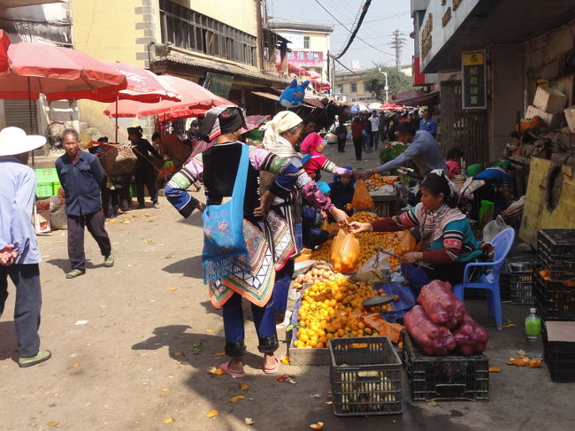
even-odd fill
[(180, 102), (162, 101), (157, 104), (142, 104), (131, 100), (120, 100), (116, 104), (109, 104), (103, 111), (111, 118), (148, 117), (158, 115), (160, 121), (184, 119), (206, 112), (220, 104), (232, 104), (229, 100), (213, 94), (196, 82), (184, 80), (176, 76), (161, 75), (163, 81), (175, 89), (180, 95)]

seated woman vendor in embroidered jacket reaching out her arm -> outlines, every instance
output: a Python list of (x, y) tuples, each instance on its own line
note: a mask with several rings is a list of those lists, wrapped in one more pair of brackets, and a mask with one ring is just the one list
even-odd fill
[[(402, 256), (402, 272), (415, 294), (429, 281), (461, 283), (465, 265), (482, 253), (445, 172), (435, 169), (421, 183), (421, 202), (408, 212), (372, 223), (350, 224), (354, 233), (394, 232), (418, 227), (423, 251)], [(424, 262), (426, 267), (413, 264)]]

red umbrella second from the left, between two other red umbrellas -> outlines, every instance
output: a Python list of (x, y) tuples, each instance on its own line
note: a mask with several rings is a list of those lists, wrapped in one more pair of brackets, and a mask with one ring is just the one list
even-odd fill
[(142, 69), (136, 65), (126, 65), (119, 61), (115, 63), (106, 63), (116, 72), (126, 76), (126, 89), (119, 90), (117, 94), (107, 93), (99, 98), (98, 102), (115, 102), (119, 100), (135, 100), (147, 104), (153, 104), (162, 100), (171, 100), (180, 102), (180, 95), (173, 87), (158, 76), (156, 73)]

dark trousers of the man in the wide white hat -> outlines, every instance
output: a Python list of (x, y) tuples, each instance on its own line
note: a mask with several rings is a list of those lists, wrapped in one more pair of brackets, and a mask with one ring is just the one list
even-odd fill
[(40, 310), (42, 290), (38, 264), (0, 266), (0, 315), (8, 297), (8, 277), (16, 286), (14, 327), (21, 358), (35, 356), (40, 349)]

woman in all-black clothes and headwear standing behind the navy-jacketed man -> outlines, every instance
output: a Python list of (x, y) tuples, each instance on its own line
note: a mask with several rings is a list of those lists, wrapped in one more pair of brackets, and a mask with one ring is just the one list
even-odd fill
[(144, 186), (146, 186), (152, 204), (157, 208), (157, 167), (154, 165), (152, 158), (162, 160), (162, 156), (148, 140), (143, 139), (142, 127), (128, 127), (127, 138), (132, 142), (132, 151), (138, 158), (135, 164), (135, 189), (136, 196), (138, 196), (138, 207), (144, 207)]

